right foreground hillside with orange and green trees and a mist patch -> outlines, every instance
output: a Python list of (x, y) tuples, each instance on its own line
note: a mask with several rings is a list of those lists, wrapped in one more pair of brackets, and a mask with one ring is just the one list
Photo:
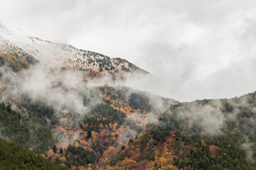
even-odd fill
[(255, 169), (255, 95), (172, 105), (105, 169)]

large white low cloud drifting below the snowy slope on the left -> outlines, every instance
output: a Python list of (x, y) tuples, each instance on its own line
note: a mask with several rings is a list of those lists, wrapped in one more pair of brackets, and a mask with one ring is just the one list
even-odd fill
[(100, 102), (100, 98), (91, 100), (92, 103), (85, 106), (85, 98), (90, 101), (90, 91), (95, 89), (85, 86), (83, 76), (84, 73), (75, 70), (60, 72), (46, 65), (36, 64), (16, 74), (2, 72), (1, 80), (9, 86), (10, 91), (7, 92), (14, 98), (25, 95), (33, 101), (53, 106), (56, 111), (68, 109), (85, 115), (90, 111), (90, 106)]

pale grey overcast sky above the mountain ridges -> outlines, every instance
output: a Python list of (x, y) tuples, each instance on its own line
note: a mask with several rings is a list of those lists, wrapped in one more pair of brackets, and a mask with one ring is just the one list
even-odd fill
[(256, 90), (254, 0), (0, 0), (0, 20), (129, 60), (163, 80), (146, 90), (179, 101)]

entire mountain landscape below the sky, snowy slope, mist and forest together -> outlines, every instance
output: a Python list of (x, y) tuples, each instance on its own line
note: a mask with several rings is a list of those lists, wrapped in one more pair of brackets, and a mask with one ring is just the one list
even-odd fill
[(122, 86), (148, 74), (126, 60), (3, 23), (0, 73), (4, 169), (256, 169), (256, 92), (181, 103)]

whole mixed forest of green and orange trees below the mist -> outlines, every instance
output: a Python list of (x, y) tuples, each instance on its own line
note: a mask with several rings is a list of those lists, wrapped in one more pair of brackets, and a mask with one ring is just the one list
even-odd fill
[[(11, 162), (11, 169), (255, 169), (256, 93), (174, 103), (154, 123), (148, 113), (158, 110), (149, 96), (132, 92), (127, 98), (127, 91), (101, 86), (97, 96), (102, 102), (82, 117), (57, 114), (53, 106), (27, 96), (15, 108), (1, 103), (5, 140), (0, 164)], [(220, 111), (223, 125), (218, 132), (205, 132), (205, 120), (183, 115), (194, 114), (193, 107), (213, 108), (212, 116)]]

